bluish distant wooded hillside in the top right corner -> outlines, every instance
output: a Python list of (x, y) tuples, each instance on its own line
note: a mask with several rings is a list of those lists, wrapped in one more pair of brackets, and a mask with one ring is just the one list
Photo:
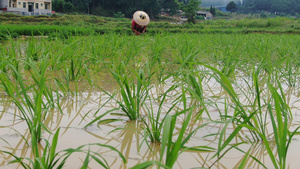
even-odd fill
[(243, 0), (238, 5), (242, 13), (271, 12), (274, 14), (300, 14), (300, 0)]

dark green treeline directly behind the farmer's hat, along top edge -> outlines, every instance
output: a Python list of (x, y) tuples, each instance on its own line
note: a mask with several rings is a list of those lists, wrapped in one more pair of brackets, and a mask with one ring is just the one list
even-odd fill
[[(186, 0), (183, 0), (186, 1)], [(137, 10), (146, 11), (151, 17), (159, 15), (161, 9), (174, 13), (175, 0), (52, 0), (56, 12), (93, 14), (109, 17), (132, 17)]]

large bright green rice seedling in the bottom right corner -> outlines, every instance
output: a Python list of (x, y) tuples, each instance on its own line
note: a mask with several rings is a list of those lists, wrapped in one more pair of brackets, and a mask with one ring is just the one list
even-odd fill
[[(286, 157), (287, 157), (289, 145), (294, 135), (298, 133), (300, 126), (298, 126), (292, 132), (288, 129), (290, 108), (286, 103), (286, 100), (284, 98), (284, 93), (279, 81), (277, 81), (277, 85), (278, 88), (275, 88), (270, 83), (268, 83), (268, 88), (272, 94), (272, 99), (275, 106), (273, 107), (272, 103), (267, 103), (268, 106), (267, 111), (271, 118), (274, 138), (270, 140), (270, 138), (267, 138), (265, 133), (262, 133), (258, 129), (253, 128), (252, 126), (243, 125), (243, 127), (256, 131), (260, 135), (274, 167), (284, 169), (287, 167)], [(271, 141), (276, 142), (278, 157), (276, 157), (274, 152), (271, 150), (271, 146), (270, 146)]]

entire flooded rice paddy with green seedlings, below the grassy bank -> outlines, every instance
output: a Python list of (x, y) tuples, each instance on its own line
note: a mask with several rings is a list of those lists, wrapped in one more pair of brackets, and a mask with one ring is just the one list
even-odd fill
[(0, 42), (0, 168), (300, 165), (298, 33), (53, 35)]

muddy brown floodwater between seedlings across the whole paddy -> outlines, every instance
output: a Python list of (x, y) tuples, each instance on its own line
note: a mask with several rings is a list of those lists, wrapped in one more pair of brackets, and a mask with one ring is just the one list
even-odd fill
[[(156, 39), (152, 38), (150, 40), (154, 41)], [(26, 44), (22, 45), (26, 47)], [(44, 52), (45, 51), (47, 50), (44, 50)], [(25, 51), (23, 52), (26, 53)], [(170, 53), (170, 51), (166, 52)], [(76, 54), (76, 52), (71, 51), (61, 51), (58, 53), (64, 53), (65, 55), (69, 55), (67, 53)], [(84, 54), (85, 56), (89, 55), (90, 53), (86, 54), (85, 52), (82, 52), (81, 54)], [(134, 55), (136, 54), (137, 53), (134, 53)], [(298, 54), (299, 53), (296, 53), (296, 55)], [(145, 54), (142, 53), (138, 55)], [(64, 60), (62, 56), (63, 55), (58, 58), (61, 60), (56, 64), (60, 64), (60, 62), (67, 60)], [(107, 61), (106, 59), (105, 62)], [(171, 60), (175, 59), (170, 58), (168, 61)], [(143, 65), (145, 62), (147, 62), (147, 59), (140, 59), (137, 61), (135, 66), (139, 64)], [(119, 66), (116, 62), (112, 64)], [(160, 66), (166, 64), (167, 61), (163, 62)], [(259, 85), (255, 86), (256, 81), (253, 80), (255, 78), (252, 77), (254, 76), (252, 75), (252, 70), (250, 73), (245, 73), (241, 71), (241, 68), (239, 67), (241, 65), (235, 67), (235, 70), (233, 70), (233, 72), (235, 72), (234, 75), (230, 74), (230, 71), (226, 71), (225, 66), (220, 66), (222, 63), (214, 66), (219, 70), (224, 68), (222, 72), (224, 74), (227, 73), (228, 76), (226, 77), (223, 77), (223, 74), (218, 74), (219, 72), (215, 71), (214, 69), (210, 69), (209, 66), (205, 66), (204, 64), (199, 64), (197, 66), (195, 65), (197, 64), (192, 66), (192, 73), (182, 73), (182, 68), (178, 66), (177, 61), (174, 63), (174, 65), (173, 63), (167, 65), (168, 67), (176, 67), (174, 69), (180, 71), (175, 71), (174, 69), (168, 70), (168, 74), (163, 74), (163, 76), (158, 78), (164, 79), (163, 82), (161, 80), (153, 80), (149, 85), (147, 85), (149, 89), (147, 90), (148, 95), (145, 98), (144, 104), (142, 104), (140, 107), (140, 117), (137, 120), (130, 120), (128, 116), (120, 115), (124, 114), (123, 110), (120, 109), (120, 103), (123, 103), (124, 101), (124, 97), (122, 96), (121, 92), (119, 92), (122, 86), (118, 84), (117, 80), (110, 71), (95, 68), (96, 71), (99, 72), (96, 75), (93, 74), (94, 77), (92, 80), (92, 85), (90, 84), (89, 80), (86, 80), (86, 76), (92, 76), (91, 74), (93, 72), (90, 72), (90, 75), (84, 74), (83, 78), (79, 78), (77, 81), (68, 81), (65, 83), (69, 90), (67, 92), (63, 90), (65, 88), (56, 89), (54, 85), (51, 86), (50, 91), (52, 92), (53, 100), (51, 101), (50, 99), (49, 101), (46, 98), (43, 100), (44, 103), (53, 102), (57, 105), (47, 109), (47, 114), (41, 117), (43, 118), (43, 124), (45, 127), (43, 127), (42, 130), (42, 140), (39, 144), (39, 151), (42, 152), (45, 150), (46, 140), (51, 143), (53, 134), (60, 128), (56, 148), (57, 152), (69, 148), (77, 148), (81, 145), (97, 143), (116, 148), (116, 150), (118, 150), (127, 160), (127, 163), (124, 163), (121, 156), (116, 151), (107, 147), (95, 145), (85, 147), (86, 150), (90, 149), (93, 152), (101, 154), (102, 157), (107, 161), (107, 165), (110, 168), (125, 169), (134, 167), (146, 161), (160, 161), (162, 145), (156, 142), (151, 143), (149, 133), (146, 131), (147, 128), (150, 128), (150, 121), (148, 120), (149, 117), (156, 117), (155, 115), (159, 114), (160, 103), (163, 103), (161, 107), (162, 111), (161, 114), (159, 114), (157, 121), (161, 122), (161, 124), (164, 124), (162, 121), (165, 120), (170, 108), (176, 102), (179, 102), (172, 110), (170, 110), (168, 114), (173, 115), (174, 117), (176, 113), (182, 112), (183, 110), (187, 109), (187, 107), (191, 106), (192, 108), (190, 110), (193, 113), (192, 119), (186, 126), (184, 136), (186, 137), (190, 133), (192, 134), (184, 145), (185, 147), (181, 147), (183, 151), (179, 152), (178, 159), (173, 165), (173, 168), (239, 168), (241, 166), (242, 168), (264, 168), (259, 163), (265, 165), (266, 168), (274, 168), (272, 160), (269, 157), (270, 152), (268, 152), (266, 149), (265, 143), (262, 141), (262, 139), (256, 140), (256, 137), (253, 136), (253, 133), (251, 133), (251, 131), (249, 131), (246, 127), (239, 130), (238, 134), (235, 135), (232, 140), (230, 140), (230, 144), (228, 144), (226, 149), (221, 152), (219, 158), (217, 156), (213, 157), (218, 148), (222, 146), (223, 142), (225, 142), (225, 140), (229, 138), (230, 135), (236, 131), (236, 128), (238, 128), (238, 126), (243, 122), (243, 119), (237, 113), (240, 111), (240, 109), (242, 109), (239, 108), (240, 105), (243, 105), (245, 112), (248, 114), (257, 112), (258, 110), (262, 111), (262, 114), (268, 114), (268, 103), (270, 103), (270, 105), (275, 104), (273, 103), (273, 99), (270, 99), (272, 98), (272, 90), (268, 90), (267, 83), (264, 82), (266, 80), (265, 77), (267, 76), (267, 73), (261, 73), (258, 75), (257, 82)], [(53, 66), (55, 67), (56, 65)], [(90, 64), (90, 66), (93, 65)], [(140, 75), (140, 72), (135, 72), (133, 69), (131, 69), (131, 66), (128, 66), (127, 64), (125, 64), (125, 66), (127, 66), (128, 70), (133, 72), (133, 77)], [(141, 67), (136, 66), (134, 68), (138, 70), (138, 68)], [(66, 78), (65, 76), (68, 76), (67, 73), (70, 71), (70, 69), (66, 69), (65, 71), (49, 71), (50, 73), (47, 78), (51, 79), (53, 74), (54, 77), (63, 76)], [(187, 69), (188, 68), (185, 67), (185, 69), (182, 69), (182, 71), (187, 71)], [(113, 70), (113, 68), (111, 70)], [(147, 70), (146, 66), (145, 70)], [(246, 70), (246, 68), (242, 70)], [(114, 69), (114, 71), (118, 72), (119, 70)], [(126, 71), (125, 73), (122, 71), (125, 70), (120, 70), (122, 73), (120, 77), (124, 77), (124, 74), (128, 73)], [(170, 72), (173, 73), (172, 76), (169, 75)], [(34, 74), (28, 73), (28, 70), (23, 70), (22, 74), (24, 75), (23, 77), (26, 77), (28, 81), (32, 83), (32, 80), (29, 79)], [(201, 98), (196, 95), (196, 90), (192, 90), (196, 89), (196, 86), (189, 86), (192, 85), (190, 83), (193, 82), (192, 77), (184, 77), (185, 74), (195, 75), (195, 80), (198, 84), (201, 84)], [(215, 76), (215, 74), (218, 74), (218, 76)], [(3, 76), (1, 77), (4, 79)], [(274, 77), (272, 76), (270, 78), (273, 79)], [(132, 80), (134, 84), (138, 84), (138, 78), (128, 79)], [(230, 79), (231, 85), (226, 84), (224, 79)], [(296, 79), (298, 79), (297, 76)], [(18, 84), (16, 81), (15, 83)], [(51, 82), (51, 84), (52, 83), (54, 82)], [(12, 99), (15, 96), (9, 96), (7, 94), (9, 92), (5, 90), (3, 84), (5, 84), (5, 81), (1, 82), (2, 88), (0, 95), (0, 150), (13, 153), (17, 157), (32, 159), (33, 150), (30, 143), (31, 134), (28, 124), (26, 123), (27, 121), (24, 120), (23, 114), (20, 112), (20, 107), (16, 106), (16, 101), (14, 102)], [(142, 84), (145, 85), (146, 81), (144, 81)], [(278, 83), (275, 82), (269, 85), (278, 87)], [(30, 87), (30, 85), (28, 86)], [(136, 85), (135, 88), (130, 88), (132, 93), (134, 93), (138, 88), (137, 86), (138, 85)], [(230, 95), (230, 92), (232, 92), (230, 89), (228, 89), (230, 86), (232, 86), (235, 94)], [(300, 126), (298, 86), (299, 84), (297, 80), (292, 86), (288, 85), (287, 82), (282, 80), (281, 87), (278, 90), (280, 95), (284, 95), (284, 101), (289, 106), (291, 112), (292, 118), (288, 118), (287, 126), (290, 131), (294, 131), (298, 126)], [(129, 87), (132, 86), (129, 85)], [(259, 88), (260, 91), (261, 105), (266, 105), (261, 106), (261, 108), (258, 108), (259, 104), (257, 104), (258, 101), (256, 100), (256, 87)], [(272, 89), (270, 86), (269, 88)], [(34, 97), (35, 91), (29, 89), (31, 88), (28, 88), (28, 90), (26, 89), (26, 91), (28, 91), (28, 95), (30, 97)], [(49, 86), (48, 89), (50, 89)], [(22, 90), (22, 88), (18, 88), (18, 90)], [(167, 95), (164, 100), (160, 96), (164, 95), (165, 93)], [(185, 93), (185, 97), (182, 98), (181, 93)], [(234, 101), (233, 95), (238, 96), (238, 101)], [(49, 96), (49, 94), (47, 96)], [(177, 98), (179, 98), (179, 100)], [(23, 107), (25, 108), (26, 105), (23, 105)], [(112, 111), (110, 112), (110, 110)], [(106, 115), (93, 122), (93, 120), (102, 114), (105, 114), (106, 112), (108, 112)], [(151, 112), (153, 112), (154, 115), (151, 116)], [(176, 124), (174, 125), (175, 127), (172, 133), (173, 142), (180, 137), (180, 131), (188, 117), (188, 112), (189, 111), (182, 113), (176, 119)], [(232, 120), (232, 117), (235, 115), (237, 116), (237, 119), (241, 121), (241, 123), (238, 123), (238, 120)], [(259, 118), (260, 117), (257, 117), (257, 119)], [(263, 116), (263, 118), (259, 120), (262, 120), (263, 124), (265, 124), (265, 127), (263, 128), (270, 150), (275, 155), (278, 155), (277, 143), (274, 139), (275, 136), (273, 133), (270, 116)], [(52, 134), (47, 132), (45, 128)], [(161, 135), (163, 134), (164, 133), (161, 133)], [(300, 137), (296, 134), (292, 138), (288, 147), (286, 157), (286, 166), (288, 168), (298, 168), (300, 166), (300, 162), (297, 158), (298, 152), (300, 151), (299, 142)], [(199, 146), (207, 146), (214, 148), (215, 150), (204, 152), (185, 149), (186, 147), (197, 148)], [(251, 158), (250, 156), (253, 156), (255, 159)], [(84, 163), (85, 158), (86, 154), (84, 153), (74, 153), (66, 160), (64, 168), (80, 168)], [(20, 164), (8, 164), (8, 162), (12, 160), (14, 160), (14, 158), (10, 154), (0, 152), (0, 168), (23, 168)], [(162, 158), (162, 163), (164, 164), (164, 162), (165, 157)], [(101, 168), (99, 163), (92, 159), (90, 159), (89, 167)], [(157, 168), (157, 166), (152, 166), (152, 168)]]

